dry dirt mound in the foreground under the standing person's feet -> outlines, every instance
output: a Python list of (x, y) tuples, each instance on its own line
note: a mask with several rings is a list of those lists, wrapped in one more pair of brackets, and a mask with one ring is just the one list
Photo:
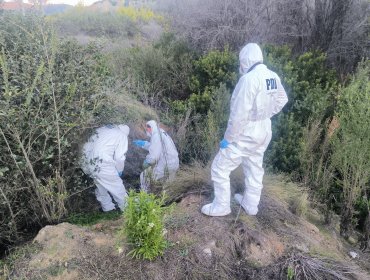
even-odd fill
[(168, 248), (152, 262), (126, 256), (117, 235), (122, 218), (45, 227), (12, 279), (287, 279), (288, 270), (294, 279), (313, 279), (304, 278), (307, 271), (317, 279), (370, 279), (351, 264), (335, 232), (294, 215), (269, 184), (254, 217), (235, 203), (231, 215), (207, 217), (199, 209), (210, 198), (188, 195), (166, 216)]

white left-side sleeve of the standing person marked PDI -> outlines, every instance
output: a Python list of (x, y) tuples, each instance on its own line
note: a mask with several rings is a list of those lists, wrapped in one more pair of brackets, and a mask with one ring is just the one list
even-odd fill
[(250, 79), (245, 76), (239, 79), (230, 102), (230, 117), (224, 138), (229, 143), (236, 143), (248, 123), (248, 117), (253, 106), (255, 90)]

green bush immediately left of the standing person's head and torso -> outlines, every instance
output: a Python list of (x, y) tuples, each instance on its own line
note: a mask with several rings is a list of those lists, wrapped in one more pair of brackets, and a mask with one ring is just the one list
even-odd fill
[(194, 60), (193, 65), (189, 85), (193, 93), (169, 102), (169, 122), (178, 127), (181, 160), (207, 163), (226, 129), (230, 91), (237, 78), (236, 56), (227, 48), (211, 51)]

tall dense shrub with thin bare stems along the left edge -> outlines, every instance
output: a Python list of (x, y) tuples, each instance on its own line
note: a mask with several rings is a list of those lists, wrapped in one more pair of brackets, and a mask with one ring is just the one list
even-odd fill
[(99, 49), (59, 41), (40, 18), (2, 15), (0, 26), (0, 242), (10, 242), (65, 216), (108, 70)]

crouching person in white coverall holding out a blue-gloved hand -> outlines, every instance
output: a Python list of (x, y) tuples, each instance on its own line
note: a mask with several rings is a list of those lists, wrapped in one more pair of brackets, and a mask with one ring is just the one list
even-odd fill
[(171, 137), (159, 128), (156, 121), (146, 123), (146, 134), (150, 142), (134, 140), (133, 143), (149, 151), (143, 163), (144, 171), (140, 174), (141, 190), (147, 192), (151, 182), (175, 176), (179, 169), (179, 155)]

